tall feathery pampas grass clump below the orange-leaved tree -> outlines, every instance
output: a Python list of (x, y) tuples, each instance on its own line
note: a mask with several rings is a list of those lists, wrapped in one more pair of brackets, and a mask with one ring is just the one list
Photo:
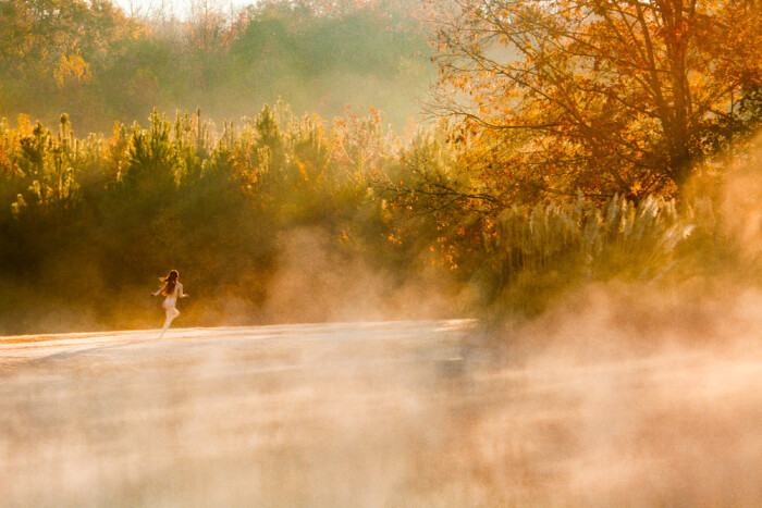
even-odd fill
[(704, 201), (679, 209), (652, 196), (514, 207), (497, 219), (471, 283), (488, 313), (533, 315), (579, 284), (678, 277), (701, 253), (697, 241), (716, 236), (714, 222)]

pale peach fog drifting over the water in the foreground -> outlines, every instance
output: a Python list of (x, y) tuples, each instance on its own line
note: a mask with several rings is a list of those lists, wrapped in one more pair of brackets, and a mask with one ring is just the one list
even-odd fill
[(643, 348), (612, 325), (622, 309), (593, 293), (587, 310), (523, 332), (557, 347), (523, 352), (500, 352), (472, 321), (4, 337), (0, 496), (5, 506), (762, 503), (760, 295), (732, 306), (702, 344), (663, 324)]

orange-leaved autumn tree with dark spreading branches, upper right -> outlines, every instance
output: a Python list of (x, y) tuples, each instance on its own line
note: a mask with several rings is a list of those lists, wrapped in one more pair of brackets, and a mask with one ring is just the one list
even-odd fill
[(759, 0), (432, 5), (435, 112), (458, 119), (470, 171), (506, 202), (680, 194), (716, 150), (710, 138), (759, 110)]

